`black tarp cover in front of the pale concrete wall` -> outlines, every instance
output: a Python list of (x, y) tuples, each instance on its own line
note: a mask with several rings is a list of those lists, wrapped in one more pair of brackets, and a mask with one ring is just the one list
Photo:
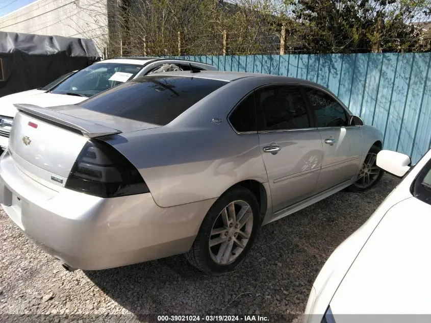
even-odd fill
[(0, 97), (45, 86), (98, 60), (91, 39), (0, 32)]

